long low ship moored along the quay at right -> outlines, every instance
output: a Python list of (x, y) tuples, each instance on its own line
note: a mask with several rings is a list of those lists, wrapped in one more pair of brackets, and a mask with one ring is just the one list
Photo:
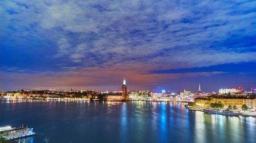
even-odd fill
[(220, 110), (220, 109), (203, 109), (205, 113), (211, 113), (211, 114), (221, 114), (221, 115), (231, 115), (231, 116), (240, 116), (243, 114), (240, 110)]

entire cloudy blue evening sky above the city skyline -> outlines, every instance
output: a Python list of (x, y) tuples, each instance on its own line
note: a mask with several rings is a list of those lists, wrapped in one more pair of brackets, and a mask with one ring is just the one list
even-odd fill
[(256, 88), (256, 1), (0, 4), (0, 90)]

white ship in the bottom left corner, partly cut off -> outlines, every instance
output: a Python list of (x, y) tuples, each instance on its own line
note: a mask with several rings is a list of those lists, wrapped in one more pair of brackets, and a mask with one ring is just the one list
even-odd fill
[(2, 137), (5, 139), (18, 139), (35, 135), (33, 128), (23, 126), (19, 128), (13, 128), (12, 126), (0, 126), (0, 132)]

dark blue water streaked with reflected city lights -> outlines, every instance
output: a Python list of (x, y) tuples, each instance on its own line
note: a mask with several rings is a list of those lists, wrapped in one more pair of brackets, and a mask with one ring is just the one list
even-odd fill
[(183, 103), (0, 99), (0, 126), (27, 124), (25, 142), (256, 142), (256, 118), (189, 111)]

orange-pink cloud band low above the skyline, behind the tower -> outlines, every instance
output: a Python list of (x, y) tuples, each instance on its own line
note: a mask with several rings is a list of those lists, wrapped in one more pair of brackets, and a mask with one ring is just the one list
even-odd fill
[[(189, 77), (209, 77), (218, 74), (225, 74), (222, 71), (198, 72), (198, 73), (176, 73), (176, 74), (149, 74), (145, 73), (148, 69), (139, 68), (134, 70), (133, 67), (123, 65), (106, 67), (102, 70), (99, 67), (90, 67), (77, 69), (73, 71), (44, 71), (40, 73), (26, 73), (26, 72), (3, 72), (1, 71), (0, 80), (3, 82), (10, 82), (12, 86), (1, 82), (2, 89), (13, 89), (13, 87), (31, 89), (35, 87), (73, 87), (74, 89), (83, 88), (88, 89), (88, 86), (102, 89), (106, 86), (116, 86), (119, 90), (122, 79), (126, 78), (130, 85), (137, 86), (130, 87), (130, 89), (138, 89), (140, 85), (157, 85), (169, 80), (184, 79)], [(118, 71), (118, 72), (116, 72)], [(26, 81), (26, 85), (23, 83)]]

